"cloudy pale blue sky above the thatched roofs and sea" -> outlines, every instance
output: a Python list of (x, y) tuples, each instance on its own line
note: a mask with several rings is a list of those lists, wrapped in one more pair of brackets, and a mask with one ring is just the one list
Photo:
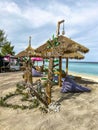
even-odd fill
[[(0, 0), (0, 29), (16, 54), (44, 44), (64, 19), (65, 36), (89, 48), (83, 61), (98, 62), (98, 0)], [(62, 32), (62, 26), (61, 30)]]

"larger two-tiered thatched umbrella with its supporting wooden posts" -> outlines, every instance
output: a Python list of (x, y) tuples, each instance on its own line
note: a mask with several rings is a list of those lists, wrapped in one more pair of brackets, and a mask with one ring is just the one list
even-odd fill
[[(82, 59), (84, 58), (79, 52), (87, 53), (88, 48), (80, 45), (79, 43), (67, 38), (65, 36), (58, 36), (56, 39), (48, 40), (45, 44), (41, 45), (36, 49), (36, 52), (42, 54), (43, 57), (49, 57), (49, 69), (51, 70), (48, 73), (48, 78), (52, 80), (52, 71), (53, 71), (53, 57), (59, 57), (59, 86), (61, 87), (61, 78), (62, 78), (62, 58), (66, 58), (66, 74), (68, 73), (68, 58)], [(48, 103), (51, 102), (51, 83), (47, 85), (49, 92)]]

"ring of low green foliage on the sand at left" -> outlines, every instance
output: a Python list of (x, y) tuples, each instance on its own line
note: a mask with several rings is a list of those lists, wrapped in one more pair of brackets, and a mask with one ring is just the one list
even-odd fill
[[(5, 97), (1, 97), (0, 98), (0, 106), (2, 107), (8, 107), (8, 108), (13, 108), (13, 109), (33, 109), (39, 106), (39, 101), (37, 99), (29, 99), (29, 95), (28, 93), (24, 93), (23, 90), (25, 89), (25, 86), (23, 86), (22, 84), (17, 84), (17, 89), (14, 93), (9, 93), (7, 95), (5, 95)], [(30, 102), (30, 105), (17, 105), (17, 104), (9, 104), (6, 102), (7, 99), (11, 98), (12, 96), (16, 96), (16, 95), (22, 95), (22, 99), (21, 101), (28, 101)]]

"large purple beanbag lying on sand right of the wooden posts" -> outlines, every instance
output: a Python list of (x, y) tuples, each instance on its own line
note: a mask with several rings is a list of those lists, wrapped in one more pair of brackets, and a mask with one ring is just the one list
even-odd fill
[(69, 76), (66, 76), (65, 80), (62, 83), (61, 92), (67, 93), (67, 92), (90, 92), (91, 89), (81, 86), (77, 84), (74, 80), (72, 80)]

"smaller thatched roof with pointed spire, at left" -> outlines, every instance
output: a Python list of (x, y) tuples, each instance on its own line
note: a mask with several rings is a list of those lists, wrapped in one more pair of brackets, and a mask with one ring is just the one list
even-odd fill
[(19, 52), (15, 57), (33, 57), (33, 56), (41, 56), (41, 53), (35, 52), (35, 49), (31, 47), (31, 37), (29, 37), (29, 45), (28, 47)]

